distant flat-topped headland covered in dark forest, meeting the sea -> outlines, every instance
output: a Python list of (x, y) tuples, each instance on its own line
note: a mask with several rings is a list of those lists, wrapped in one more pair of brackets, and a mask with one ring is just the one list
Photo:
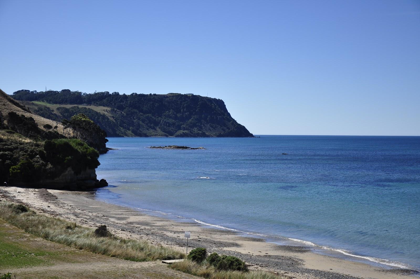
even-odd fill
[(45, 118), (61, 121), (83, 113), (108, 137), (253, 137), (223, 100), (193, 94), (92, 94), (19, 90), (12, 96)]

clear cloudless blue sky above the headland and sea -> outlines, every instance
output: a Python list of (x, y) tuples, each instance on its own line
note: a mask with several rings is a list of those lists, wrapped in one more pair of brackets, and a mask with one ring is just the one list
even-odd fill
[(420, 135), (420, 1), (0, 0), (0, 88), (223, 99), (254, 134)]

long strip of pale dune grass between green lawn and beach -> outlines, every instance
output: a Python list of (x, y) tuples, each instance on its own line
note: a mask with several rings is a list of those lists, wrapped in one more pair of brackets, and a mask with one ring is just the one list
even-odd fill
[(30, 234), (92, 253), (130, 261), (173, 260), (185, 257), (184, 253), (173, 248), (151, 245), (144, 240), (126, 240), (112, 234), (98, 237), (95, 229), (37, 214), (30, 208), (16, 203), (0, 203), (0, 217)]

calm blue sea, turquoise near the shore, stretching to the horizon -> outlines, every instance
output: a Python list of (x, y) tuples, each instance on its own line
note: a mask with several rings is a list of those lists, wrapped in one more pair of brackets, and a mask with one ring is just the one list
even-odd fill
[(98, 199), (420, 270), (420, 137), (109, 138), (108, 147), (118, 150), (100, 156), (110, 187)]

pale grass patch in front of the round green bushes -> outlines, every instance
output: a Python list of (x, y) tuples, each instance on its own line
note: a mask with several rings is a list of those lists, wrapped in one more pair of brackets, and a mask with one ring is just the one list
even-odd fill
[(276, 275), (267, 271), (226, 271), (217, 270), (214, 266), (204, 261), (197, 263), (190, 260), (184, 260), (178, 263), (173, 263), (171, 268), (182, 271), (195, 276), (208, 279), (290, 279), (289, 276)]

